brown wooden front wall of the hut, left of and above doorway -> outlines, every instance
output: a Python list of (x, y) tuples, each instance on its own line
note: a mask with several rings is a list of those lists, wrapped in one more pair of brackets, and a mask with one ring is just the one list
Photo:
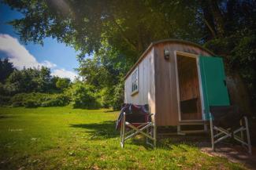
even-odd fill
[[(164, 58), (164, 49), (169, 49), (169, 60)], [(203, 49), (178, 42), (162, 42), (154, 45), (155, 104), (158, 126), (177, 125), (179, 119), (175, 51), (210, 56), (210, 53)]]

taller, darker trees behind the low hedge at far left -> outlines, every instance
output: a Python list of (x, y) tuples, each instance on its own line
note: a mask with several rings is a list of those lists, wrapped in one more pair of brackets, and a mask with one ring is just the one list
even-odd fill
[[(1, 83), (1, 82), (0, 82)], [(71, 81), (69, 78), (51, 77), (50, 69), (47, 67), (24, 68), (14, 70), (0, 84), (0, 94), (13, 96), (22, 92), (63, 92), (69, 87)]]

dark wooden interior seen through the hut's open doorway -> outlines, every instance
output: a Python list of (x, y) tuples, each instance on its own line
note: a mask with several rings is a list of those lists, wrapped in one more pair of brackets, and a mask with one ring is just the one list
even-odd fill
[(197, 56), (177, 54), (178, 99), (180, 104), (179, 121), (202, 120), (202, 104), (198, 81)]

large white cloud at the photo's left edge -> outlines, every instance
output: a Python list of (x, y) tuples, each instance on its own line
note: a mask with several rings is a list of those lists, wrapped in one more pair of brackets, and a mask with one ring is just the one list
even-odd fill
[(35, 56), (33, 56), (28, 50), (21, 45), (17, 38), (13, 38), (9, 34), (0, 34), (0, 51), (5, 52), (9, 58), (9, 61), (13, 63), (17, 69), (23, 67), (56, 67), (55, 63), (50, 61), (43, 61), (39, 63)]

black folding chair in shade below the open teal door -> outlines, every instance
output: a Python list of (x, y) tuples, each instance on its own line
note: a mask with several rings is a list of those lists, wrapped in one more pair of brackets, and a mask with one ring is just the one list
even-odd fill
[(224, 139), (233, 138), (243, 146), (247, 146), (251, 154), (248, 120), (244, 114), (239, 112), (238, 107), (210, 107), (210, 132), (213, 150), (215, 150), (215, 144)]

